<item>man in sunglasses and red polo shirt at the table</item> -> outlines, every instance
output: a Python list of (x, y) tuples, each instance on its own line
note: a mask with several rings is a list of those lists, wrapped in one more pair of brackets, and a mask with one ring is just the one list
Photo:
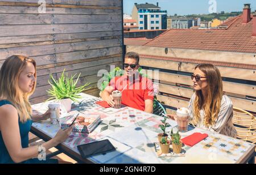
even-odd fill
[(114, 106), (112, 92), (122, 91), (122, 104), (144, 112), (153, 112), (154, 89), (150, 79), (139, 74), (139, 54), (128, 52), (125, 55), (125, 75), (113, 78), (101, 93), (102, 100)]

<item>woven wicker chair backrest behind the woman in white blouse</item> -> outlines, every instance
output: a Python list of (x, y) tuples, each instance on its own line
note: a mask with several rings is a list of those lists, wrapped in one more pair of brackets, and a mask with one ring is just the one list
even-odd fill
[(233, 124), (237, 138), (251, 143), (256, 142), (256, 117), (246, 110), (233, 108)]

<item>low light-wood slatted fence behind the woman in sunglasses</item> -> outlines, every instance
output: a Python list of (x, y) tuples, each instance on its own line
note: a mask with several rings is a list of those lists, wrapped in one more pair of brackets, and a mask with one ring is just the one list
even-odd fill
[[(160, 49), (162, 48), (151, 47), (147, 50), (146, 46), (127, 46), (126, 52), (135, 51), (141, 54), (139, 62), (144, 69), (159, 70), (158, 77), (154, 77), (154, 74), (148, 74), (148, 76), (159, 81), (159, 95), (157, 98), (167, 106), (169, 113), (174, 113), (176, 108), (188, 106), (188, 101), (194, 93), (190, 74), (194, 71), (197, 63), (154, 57), (161, 57), (166, 54), (164, 49), (163, 53), (159, 51)], [(147, 54), (143, 53), (145, 50), (147, 50)], [(158, 50), (158, 53), (156, 53), (156, 50)], [(255, 114), (256, 70), (226, 66), (217, 67), (222, 78), (224, 78), (224, 91), (232, 100), (233, 106)]]

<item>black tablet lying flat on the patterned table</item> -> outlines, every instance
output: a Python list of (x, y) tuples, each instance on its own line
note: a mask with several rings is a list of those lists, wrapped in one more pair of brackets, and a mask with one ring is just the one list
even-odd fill
[(82, 158), (100, 155), (102, 153), (114, 151), (115, 147), (108, 139), (77, 146)]

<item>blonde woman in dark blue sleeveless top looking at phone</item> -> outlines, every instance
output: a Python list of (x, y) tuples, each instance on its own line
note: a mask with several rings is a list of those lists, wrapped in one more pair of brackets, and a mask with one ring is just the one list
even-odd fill
[[(0, 163), (58, 163), (56, 159), (39, 160), (39, 146), (28, 147), (28, 133), (33, 121), (49, 118), (49, 112), (33, 115), (28, 97), (36, 85), (36, 62), (24, 56), (11, 56), (0, 70)], [(72, 127), (59, 130), (54, 138), (40, 145), (48, 150), (64, 142)]]

